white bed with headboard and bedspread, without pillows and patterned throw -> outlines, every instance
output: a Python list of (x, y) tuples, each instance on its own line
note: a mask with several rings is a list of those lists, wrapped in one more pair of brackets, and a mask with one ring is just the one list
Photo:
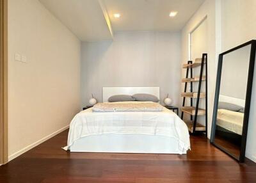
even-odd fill
[[(159, 97), (159, 87), (104, 87), (103, 101), (111, 95), (134, 93)], [(138, 104), (121, 102), (132, 103)], [(139, 103), (143, 106), (154, 102)], [(81, 111), (70, 123), (64, 149), (70, 152), (186, 154), (189, 148), (188, 127), (173, 111), (163, 107), (163, 111), (95, 112), (93, 108)]]

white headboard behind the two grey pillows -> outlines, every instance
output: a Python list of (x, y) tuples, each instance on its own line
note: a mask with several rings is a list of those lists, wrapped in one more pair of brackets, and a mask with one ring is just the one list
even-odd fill
[(159, 87), (103, 87), (103, 102), (108, 102), (112, 95), (134, 95), (136, 93), (148, 93), (159, 99)]

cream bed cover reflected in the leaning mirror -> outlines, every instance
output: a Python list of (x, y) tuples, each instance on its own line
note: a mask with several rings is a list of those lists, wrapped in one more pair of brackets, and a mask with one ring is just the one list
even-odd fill
[(244, 113), (230, 111), (227, 109), (218, 109), (217, 125), (241, 135), (243, 132)]

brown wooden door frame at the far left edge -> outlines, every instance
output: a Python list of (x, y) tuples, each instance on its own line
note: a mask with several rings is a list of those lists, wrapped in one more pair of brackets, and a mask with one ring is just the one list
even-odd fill
[(7, 1), (0, 0), (0, 164), (8, 162), (8, 24)]

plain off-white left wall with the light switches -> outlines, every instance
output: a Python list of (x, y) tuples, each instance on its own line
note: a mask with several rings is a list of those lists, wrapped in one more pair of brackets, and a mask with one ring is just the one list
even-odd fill
[[(15, 61), (15, 53), (28, 62)], [(13, 159), (66, 127), (79, 111), (80, 42), (37, 0), (9, 0), (8, 59), (8, 154)]]

